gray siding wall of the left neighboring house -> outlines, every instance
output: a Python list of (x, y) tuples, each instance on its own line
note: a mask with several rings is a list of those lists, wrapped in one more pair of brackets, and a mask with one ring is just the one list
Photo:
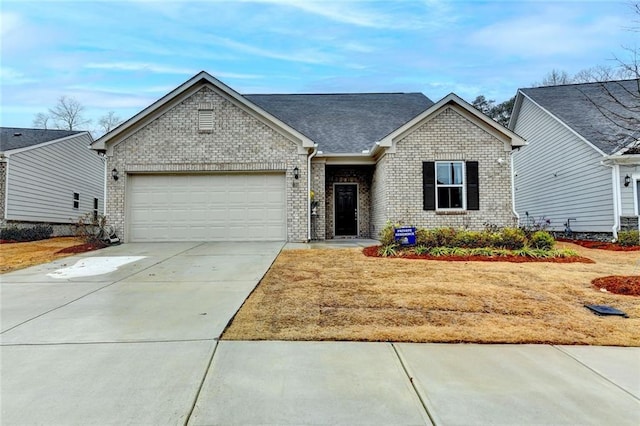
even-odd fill
[[(88, 134), (25, 150), (9, 157), (6, 219), (73, 223), (104, 204), (104, 163), (89, 148)], [(80, 194), (73, 208), (73, 194)]]

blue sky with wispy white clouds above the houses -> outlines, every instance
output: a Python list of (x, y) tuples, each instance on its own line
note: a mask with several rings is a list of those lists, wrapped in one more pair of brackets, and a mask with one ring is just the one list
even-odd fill
[(129, 118), (201, 70), (240, 93), (450, 92), (503, 101), (640, 47), (630, 1), (2, 0), (1, 114), (62, 96)]

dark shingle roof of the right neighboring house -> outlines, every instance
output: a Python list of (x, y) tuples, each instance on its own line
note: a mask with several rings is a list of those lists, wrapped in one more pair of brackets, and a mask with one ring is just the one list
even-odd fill
[[(613, 154), (640, 137), (640, 129), (634, 132), (612, 122), (613, 119), (620, 123), (619, 117), (640, 122), (639, 85), (640, 80), (633, 79), (534, 87), (520, 89), (518, 92), (547, 110), (603, 153)], [(631, 108), (625, 108), (612, 96)], [(516, 103), (516, 120), (518, 111), (519, 104)], [(515, 121), (510, 123), (510, 127), (515, 127)]]

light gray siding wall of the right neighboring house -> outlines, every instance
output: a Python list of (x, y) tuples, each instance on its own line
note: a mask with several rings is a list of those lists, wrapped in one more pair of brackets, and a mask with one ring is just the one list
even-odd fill
[(611, 168), (600, 164), (602, 154), (527, 98), (514, 130), (528, 142), (513, 155), (521, 222), (528, 212), (530, 218), (551, 220), (556, 231), (575, 218), (576, 232), (611, 232)]

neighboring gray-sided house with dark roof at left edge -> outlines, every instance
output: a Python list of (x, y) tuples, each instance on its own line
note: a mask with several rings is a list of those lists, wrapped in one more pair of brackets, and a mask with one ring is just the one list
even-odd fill
[(103, 213), (104, 160), (90, 149), (85, 131), (0, 128), (2, 225), (68, 224)]

